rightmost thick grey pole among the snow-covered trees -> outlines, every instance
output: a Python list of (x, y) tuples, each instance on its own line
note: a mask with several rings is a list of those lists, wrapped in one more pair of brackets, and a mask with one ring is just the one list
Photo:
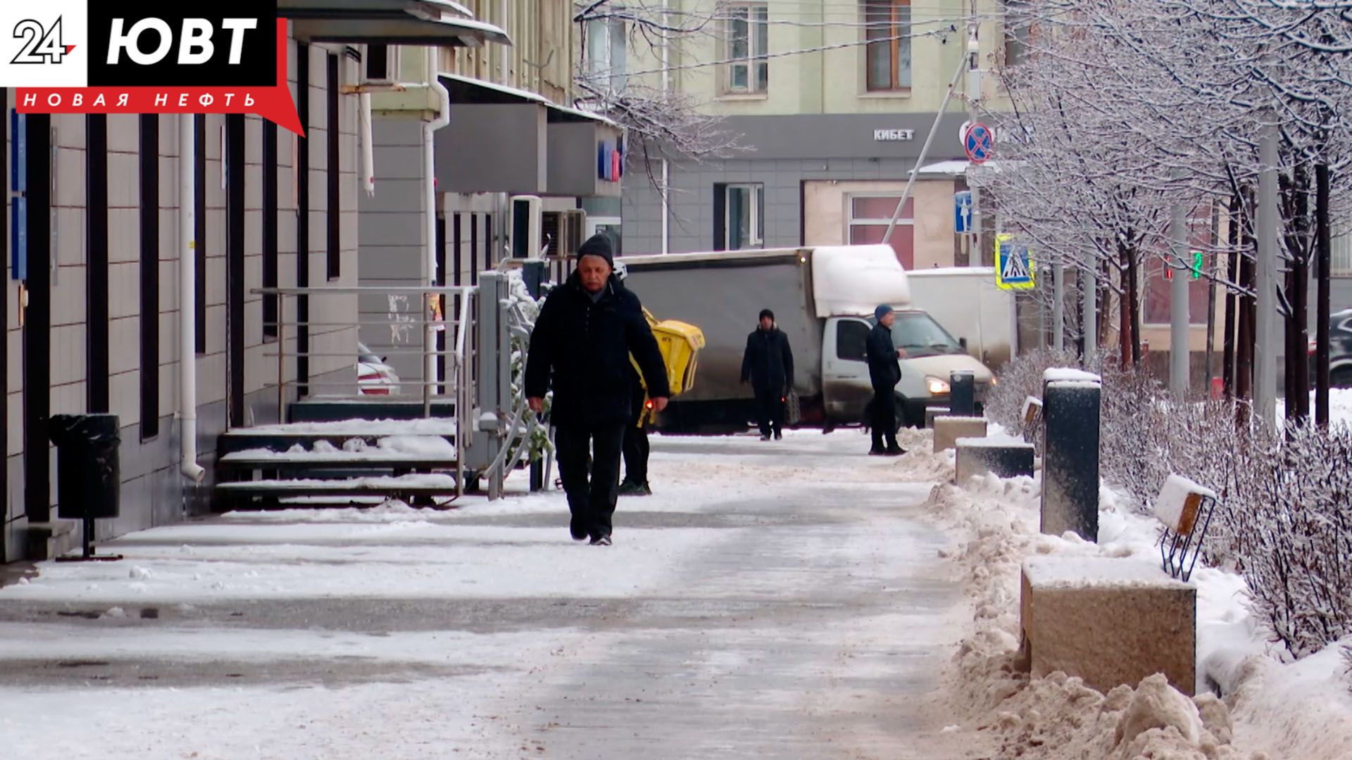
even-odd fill
[[(1268, 116), (1274, 118), (1272, 115)], [(1276, 126), (1263, 127), (1259, 141), (1257, 261), (1255, 262), (1253, 411), (1263, 425), (1276, 423)]]

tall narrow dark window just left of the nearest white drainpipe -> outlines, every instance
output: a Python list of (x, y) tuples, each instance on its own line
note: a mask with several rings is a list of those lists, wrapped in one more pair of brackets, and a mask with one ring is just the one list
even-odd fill
[(141, 116), (141, 440), (160, 434), (160, 116)]

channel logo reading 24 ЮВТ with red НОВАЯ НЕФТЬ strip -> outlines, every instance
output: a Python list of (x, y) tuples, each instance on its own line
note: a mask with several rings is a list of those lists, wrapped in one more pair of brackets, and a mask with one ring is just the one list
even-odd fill
[(0, 87), (20, 114), (258, 114), (303, 134), (276, 0), (169, 8), (7, 3)]

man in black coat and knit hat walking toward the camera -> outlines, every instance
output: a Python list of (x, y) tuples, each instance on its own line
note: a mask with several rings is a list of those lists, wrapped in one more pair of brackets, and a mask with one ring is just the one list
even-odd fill
[[(667, 407), (667, 368), (638, 296), (614, 276), (610, 241), (594, 235), (577, 249), (577, 270), (554, 288), (530, 335), (526, 398), (544, 410), (553, 371), (552, 422), (558, 475), (568, 494), (573, 538), (608, 546), (619, 488), (619, 456), (633, 403), (633, 353), (653, 408)], [(587, 457), (591, 452), (588, 477)]]

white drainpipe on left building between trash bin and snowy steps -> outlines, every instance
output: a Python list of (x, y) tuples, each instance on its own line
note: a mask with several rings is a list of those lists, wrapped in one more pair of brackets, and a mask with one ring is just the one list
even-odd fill
[(178, 448), (184, 476), (201, 483), (207, 471), (197, 464), (197, 243), (192, 238), (197, 145), (192, 122), (192, 115), (178, 115)]

